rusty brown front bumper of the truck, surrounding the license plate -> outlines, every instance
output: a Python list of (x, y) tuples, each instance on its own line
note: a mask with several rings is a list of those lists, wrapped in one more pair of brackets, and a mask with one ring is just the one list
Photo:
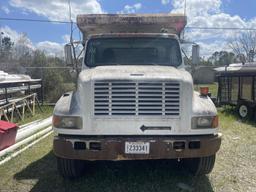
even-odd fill
[[(149, 142), (149, 154), (126, 154), (125, 142)], [(203, 136), (56, 136), (56, 156), (81, 160), (139, 160), (203, 157), (215, 154), (221, 134)]]

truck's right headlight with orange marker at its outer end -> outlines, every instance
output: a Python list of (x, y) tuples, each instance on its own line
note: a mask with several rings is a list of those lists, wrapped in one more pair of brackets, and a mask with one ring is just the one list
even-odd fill
[(219, 125), (218, 116), (193, 117), (192, 129), (217, 128)]

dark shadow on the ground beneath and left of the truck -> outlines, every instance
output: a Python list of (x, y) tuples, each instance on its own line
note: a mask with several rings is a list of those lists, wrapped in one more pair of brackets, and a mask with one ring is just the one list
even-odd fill
[(85, 175), (63, 179), (53, 152), (31, 163), (14, 177), (37, 180), (31, 191), (213, 191), (207, 176), (193, 177), (177, 161), (91, 162)]

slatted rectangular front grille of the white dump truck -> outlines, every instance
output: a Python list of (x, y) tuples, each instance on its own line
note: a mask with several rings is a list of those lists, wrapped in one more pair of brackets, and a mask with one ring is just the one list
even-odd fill
[(179, 116), (180, 84), (174, 81), (96, 81), (95, 116)]

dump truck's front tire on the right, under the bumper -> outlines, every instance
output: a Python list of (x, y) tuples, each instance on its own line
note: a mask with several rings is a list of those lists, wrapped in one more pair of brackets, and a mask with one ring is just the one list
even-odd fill
[(212, 171), (215, 163), (215, 154), (208, 157), (185, 159), (185, 167), (193, 175), (205, 175)]

